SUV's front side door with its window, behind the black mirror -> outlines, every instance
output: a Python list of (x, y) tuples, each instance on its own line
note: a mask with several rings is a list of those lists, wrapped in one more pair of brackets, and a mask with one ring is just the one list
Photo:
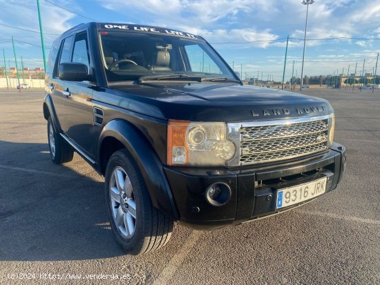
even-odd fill
[[(91, 59), (88, 41), (88, 30), (77, 32), (73, 41), (71, 62), (83, 63), (88, 73), (93, 72), (93, 59)], [(93, 83), (89, 81), (65, 81), (65, 126), (64, 132), (82, 151), (94, 157), (96, 140), (93, 138)]]

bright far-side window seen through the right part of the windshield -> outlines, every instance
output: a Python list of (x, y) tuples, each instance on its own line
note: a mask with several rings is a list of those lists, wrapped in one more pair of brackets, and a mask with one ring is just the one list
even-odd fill
[(209, 55), (197, 44), (184, 46), (193, 72), (220, 73), (220, 69)]

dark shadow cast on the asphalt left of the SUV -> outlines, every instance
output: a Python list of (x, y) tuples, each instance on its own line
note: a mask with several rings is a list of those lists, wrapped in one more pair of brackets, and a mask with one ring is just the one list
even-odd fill
[(0, 141), (0, 260), (120, 255), (95, 170), (78, 155), (53, 164), (48, 144)]

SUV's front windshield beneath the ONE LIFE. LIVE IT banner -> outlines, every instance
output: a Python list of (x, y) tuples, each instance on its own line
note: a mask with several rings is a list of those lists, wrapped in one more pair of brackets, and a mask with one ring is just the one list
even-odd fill
[(151, 75), (236, 79), (205, 41), (135, 32), (99, 32), (108, 81)]

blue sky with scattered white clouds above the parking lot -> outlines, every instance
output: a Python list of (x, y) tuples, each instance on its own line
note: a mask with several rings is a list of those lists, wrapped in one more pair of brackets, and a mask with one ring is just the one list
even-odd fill
[[(243, 70), (243, 78), (278, 81), (289, 35), (285, 79), (301, 76), (307, 9), (302, 0), (39, 1), (46, 57), (57, 35), (79, 23), (136, 23), (201, 35), (234, 70)], [(39, 32), (27, 31), (39, 31), (37, 1), (0, 0), (0, 7), (0, 50), (6, 53), (7, 66), (15, 66), (13, 36), (18, 64), (22, 56), (24, 67), (43, 67)], [(337, 37), (354, 39), (327, 39)], [(348, 68), (353, 73), (356, 63), (359, 73), (364, 59), (365, 72), (372, 73), (378, 52), (380, 0), (314, 0), (309, 6), (304, 75), (346, 74)]]

